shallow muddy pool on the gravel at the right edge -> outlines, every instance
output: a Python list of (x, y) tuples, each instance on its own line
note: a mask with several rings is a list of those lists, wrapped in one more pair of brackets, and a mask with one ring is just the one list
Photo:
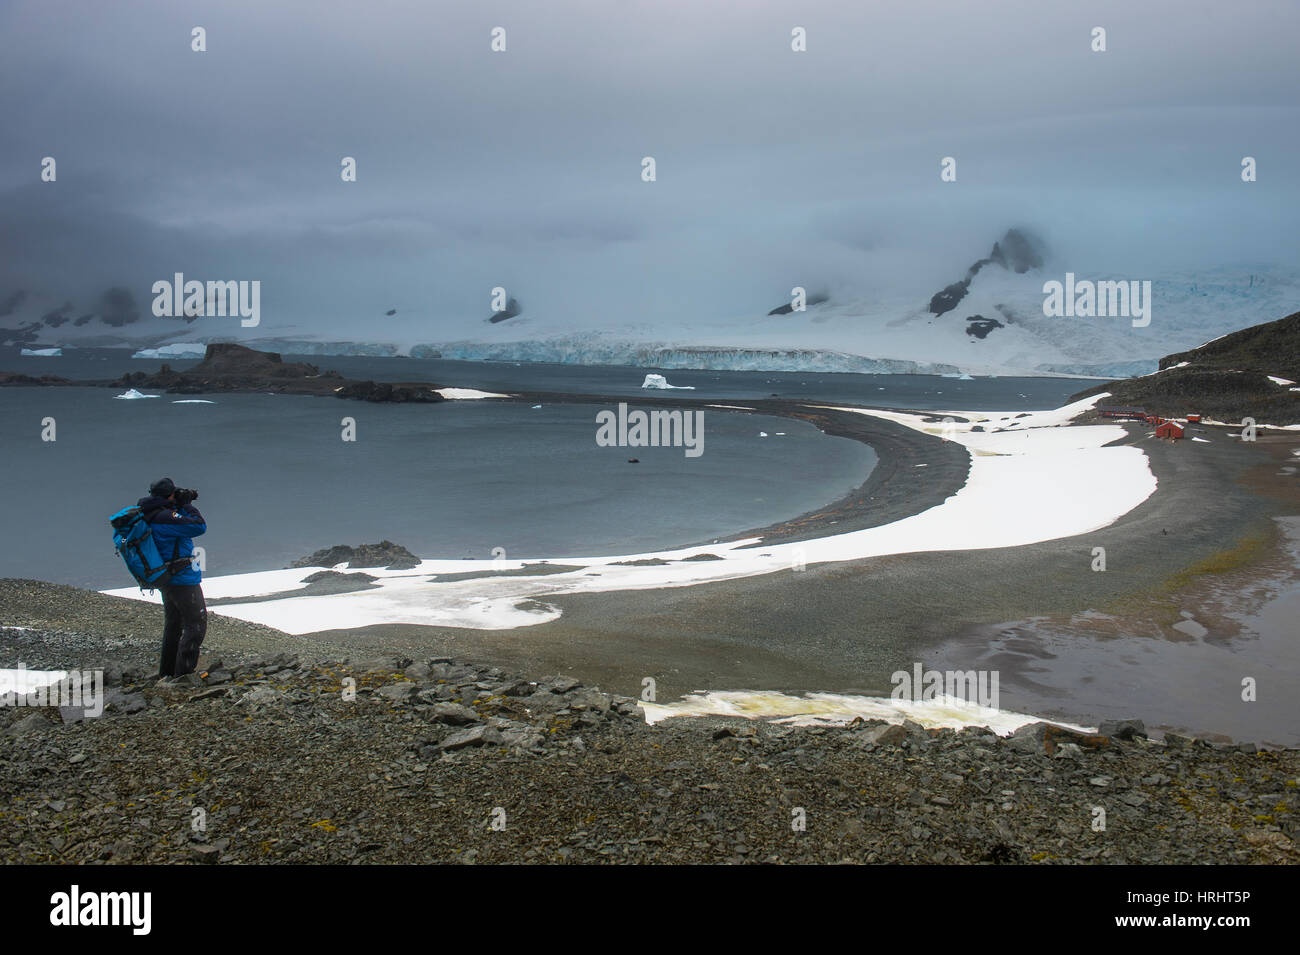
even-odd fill
[[(971, 628), (936, 657), (998, 670), (1010, 709), (1300, 746), (1300, 517), (1275, 520), (1290, 564), (1238, 591), (1206, 591), (1167, 633), (1149, 624), (1135, 633), (1135, 621), (1101, 613), (1037, 617)], [(1251, 681), (1254, 700), (1243, 699)]]

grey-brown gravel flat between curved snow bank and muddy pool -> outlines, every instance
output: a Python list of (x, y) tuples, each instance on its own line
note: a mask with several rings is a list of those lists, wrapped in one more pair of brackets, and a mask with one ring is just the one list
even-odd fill
[[(1136, 430), (1128, 439), (1143, 440)], [(1262, 448), (1240, 455), (1239, 444), (1209, 448), (1147, 442), (1153, 469), (1165, 476), (1162, 491), (1114, 525), (1075, 538), (810, 565), (798, 574), (689, 587), (559, 594), (545, 598), (562, 609), (556, 618), (510, 629), (380, 624), (320, 630), (309, 637), (359, 651), (378, 646), (412, 654), (437, 650), (528, 672), (566, 672), (629, 695), (640, 693), (645, 677), (653, 677), (662, 700), (697, 690), (742, 689), (888, 696), (888, 674), (894, 670), (918, 660), (948, 668), (936, 655), (963, 628), (1044, 613), (1084, 613), (1115, 602), (1145, 605), (1167, 600), (1166, 582), (1186, 568), (1213, 559), (1239, 535), (1271, 526), (1273, 515), (1297, 513), (1291, 500), (1274, 500), (1236, 481), (1256, 470), (1277, 470), (1275, 461), (1266, 463), (1273, 452), (1257, 452), (1275, 444), (1282, 453), (1284, 443), (1283, 437), (1266, 439)], [(1183, 453), (1191, 448), (1212, 453)], [(1216, 507), (1199, 507), (1210, 495), (1217, 495)], [(1178, 518), (1190, 511), (1197, 513), (1197, 521), (1180, 526)], [(1088, 563), (1095, 544), (1124, 555), (1123, 561), (1105, 574), (1092, 573)], [(1243, 573), (1251, 573), (1251, 567)], [(961, 585), (954, 587), (956, 582)], [(1175, 596), (1200, 616), (1195, 590)], [(1150, 631), (1145, 638), (1184, 639), (1169, 630)], [(1186, 691), (1196, 695), (1197, 685), (1188, 683)], [(1157, 730), (1213, 737), (1221, 732), (1214, 725), (1214, 707), (1230, 706), (1230, 700), (1216, 703), (1216, 696), (1208, 695), (1205, 702), (1193, 725), (1166, 724), (1153, 712), (1143, 716)], [(1004, 689), (1002, 706), (1076, 722), (1131, 715), (1095, 706), (1086, 693), (1044, 711), (1018, 704), (1015, 694)], [(1268, 726), (1243, 734), (1248, 739), (1271, 737)]]

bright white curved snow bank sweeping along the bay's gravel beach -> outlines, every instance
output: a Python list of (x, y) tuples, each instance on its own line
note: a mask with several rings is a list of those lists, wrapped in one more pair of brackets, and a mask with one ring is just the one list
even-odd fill
[[(412, 570), (367, 569), (377, 578), (377, 586), (351, 594), (294, 596), (304, 589), (302, 578), (309, 569), (208, 578), (204, 590), (212, 598), (280, 595), (282, 599), (226, 604), (218, 612), (292, 634), (369, 624), (503, 629), (555, 620), (560, 612), (541, 600), (563, 594), (689, 587), (707, 581), (788, 573), (807, 564), (920, 551), (1017, 547), (1086, 534), (1114, 522), (1156, 491), (1156, 477), (1140, 448), (1105, 447), (1127, 434), (1123, 427), (1065, 426), (1106, 396), (1095, 395), (1026, 417), (953, 412), (953, 417), (966, 421), (926, 421), (944, 412), (922, 416), (841, 409), (944, 437), (971, 453), (966, 485), (956, 494), (928, 511), (878, 528), (770, 547), (753, 547), (760, 541), (749, 538), (707, 548), (552, 557), (576, 569), (536, 577), (494, 573), (523, 569), (525, 563), (537, 563), (534, 557), (424, 560)], [(987, 430), (971, 430), (975, 426)], [(705, 551), (720, 560), (686, 560)], [(640, 567), (627, 563), (653, 557), (667, 563)], [(450, 581), (437, 577), (467, 572), (481, 573)], [(135, 587), (105, 592), (140, 598)]]

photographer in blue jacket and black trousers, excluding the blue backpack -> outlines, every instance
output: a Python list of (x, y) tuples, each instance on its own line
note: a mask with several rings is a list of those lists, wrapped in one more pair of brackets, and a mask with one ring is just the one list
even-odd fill
[(150, 486), (150, 496), (136, 502), (153, 531), (159, 554), (174, 568), (172, 578), (159, 587), (162, 592), (160, 677), (192, 673), (208, 633), (208, 609), (199, 586), (203, 573), (191, 560), (192, 538), (208, 529), (192, 503), (198, 496), (198, 491), (177, 487), (172, 478), (162, 478)]

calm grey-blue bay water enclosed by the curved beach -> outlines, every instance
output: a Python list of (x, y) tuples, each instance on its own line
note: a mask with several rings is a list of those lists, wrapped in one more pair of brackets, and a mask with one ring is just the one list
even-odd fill
[[(207, 569), (225, 574), (384, 538), (485, 560), (497, 547), (554, 557), (710, 541), (814, 509), (875, 465), (871, 448), (805, 422), (727, 412), (705, 412), (703, 453), (686, 457), (598, 447), (595, 405), (116, 394), (0, 388), (0, 507), (23, 542), (0, 551), (0, 577), (130, 585), (108, 516), (164, 474), (199, 489)], [(344, 416), (355, 442), (341, 439)], [(40, 439), (46, 417), (55, 442)]]

